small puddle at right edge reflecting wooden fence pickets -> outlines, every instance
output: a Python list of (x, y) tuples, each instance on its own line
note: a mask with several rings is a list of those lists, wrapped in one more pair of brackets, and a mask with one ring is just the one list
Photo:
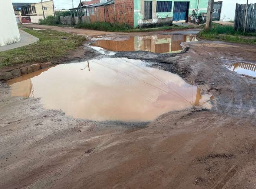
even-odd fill
[(234, 63), (227, 68), (236, 73), (256, 77), (256, 64), (253, 63)]

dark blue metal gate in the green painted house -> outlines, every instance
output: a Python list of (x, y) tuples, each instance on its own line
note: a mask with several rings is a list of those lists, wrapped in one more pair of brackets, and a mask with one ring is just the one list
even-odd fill
[(174, 1), (173, 21), (186, 20), (188, 13), (188, 1)]

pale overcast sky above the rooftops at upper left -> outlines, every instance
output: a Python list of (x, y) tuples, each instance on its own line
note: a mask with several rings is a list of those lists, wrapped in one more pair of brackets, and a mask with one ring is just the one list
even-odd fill
[[(89, 0), (81, 0), (81, 1), (89, 1)], [(38, 3), (38, 2), (41, 2), (41, 0), (12, 0), (12, 2), (13, 3)], [(72, 0), (53, 0), (53, 3), (56, 9), (72, 8)], [(73, 0), (73, 3), (74, 3), (74, 7), (77, 7), (79, 4), (79, 0)]]

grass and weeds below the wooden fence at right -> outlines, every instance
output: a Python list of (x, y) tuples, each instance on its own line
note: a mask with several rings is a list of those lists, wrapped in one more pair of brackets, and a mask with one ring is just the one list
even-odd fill
[(220, 41), (227, 41), (227, 42), (238, 42), (238, 43), (254, 43), (256, 42), (256, 38), (246, 38), (244, 36), (256, 36), (256, 33), (246, 33), (243, 34), (242, 31), (234, 30), (233, 26), (231, 25), (216, 25), (214, 24), (213, 27), (209, 31), (202, 30), (198, 34), (200, 38), (203, 39), (217, 39)]

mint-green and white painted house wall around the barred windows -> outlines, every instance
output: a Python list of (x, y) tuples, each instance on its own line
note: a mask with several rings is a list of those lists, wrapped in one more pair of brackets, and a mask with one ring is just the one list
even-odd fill
[[(159, 1), (172, 1), (172, 8), (170, 13), (157, 13), (156, 12), (156, 1), (152, 0), (152, 19), (144, 20), (144, 0), (134, 0), (134, 27), (140, 24), (157, 23), (158, 18), (170, 18), (173, 17), (173, 0), (159, 0)], [(189, 0), (177, 0), (177, 1), (189, 1)], [(189, 1), (188, 16), (191, 16), (193, 10), (197, 10), (198, 0)], [(207, 12), (208, 0), (199, 0), (198, 14)]]

